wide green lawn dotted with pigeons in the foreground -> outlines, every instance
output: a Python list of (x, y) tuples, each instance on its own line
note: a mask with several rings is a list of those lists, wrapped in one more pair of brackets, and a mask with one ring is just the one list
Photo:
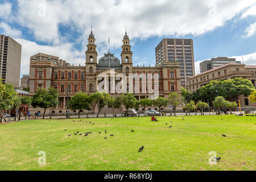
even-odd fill
[[(47, 119), (0, 125), (0, 170), (255, 170), (256, 117), (158, 119)], [(74, 135), (76, 131), (92, 134)], [(138, 152), (141, 146), (144, 150)], [(46, 152), (43, 166), (38, 164), (39, 151)], [(221, 157), (213, 166), (208, 163), (210, 151)]]

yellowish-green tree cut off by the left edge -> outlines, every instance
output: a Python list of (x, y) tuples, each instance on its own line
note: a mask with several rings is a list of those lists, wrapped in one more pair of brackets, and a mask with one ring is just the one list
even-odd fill
[[(18, 94), (14, 90), (14, 86), (10, 84), (2, 84), (0, 80), (0, 116), (3, 116), (2, 110), (13, 109), (15, 99)], [(6, 119), (5, 119), (6, 122)]]

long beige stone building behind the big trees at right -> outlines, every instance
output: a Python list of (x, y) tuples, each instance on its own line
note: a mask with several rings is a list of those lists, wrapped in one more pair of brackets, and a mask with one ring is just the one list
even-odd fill
[[(190, 92), (196, 92), (202, 86), (205, 86), (213, 80), (232, 79), (236, 77), (247, 78), (256, 89), (256, 65), (245, 65), (238, 63), (228, 63), (220, 67), (210, 69), (207, 72), (200, 73), (188, 79), (186, 88)], [(254, 109), (255, 104), (250, 103), (249, 96), (238, 96), (241, 101), (241, 107), (250, 107)]]

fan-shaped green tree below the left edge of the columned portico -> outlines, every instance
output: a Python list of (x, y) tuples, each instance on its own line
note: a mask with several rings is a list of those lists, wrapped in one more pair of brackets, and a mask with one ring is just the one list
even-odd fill
[(96, 92), (90, 96), (92, 97), (94, 104), (96, 104), (96, 106), (98, 107), (98, 113), (97, 113), (97, 118), (98, 118), (98, 115), (100, 114), (101, 109), (106, 105), (108, 105), (110, 96), (106, 92), (102, 92), (102, 93)]

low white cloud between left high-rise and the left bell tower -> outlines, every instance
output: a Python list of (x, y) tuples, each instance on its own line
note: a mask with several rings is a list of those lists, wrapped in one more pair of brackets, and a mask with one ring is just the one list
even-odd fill
[(74, 65), (85, 65), (85, 53), (73, 49), (71, 43), (61, 44), (61, 46), (40, 46), (35, 42), (24, 39), (15, 39), (22, 44), (22, 61), (20, 64), (21, 75), (27, 75), (30, 72), (30, 56), (42, 52), (48, 55), (58, 56), (60, 59), (68, 61)]

